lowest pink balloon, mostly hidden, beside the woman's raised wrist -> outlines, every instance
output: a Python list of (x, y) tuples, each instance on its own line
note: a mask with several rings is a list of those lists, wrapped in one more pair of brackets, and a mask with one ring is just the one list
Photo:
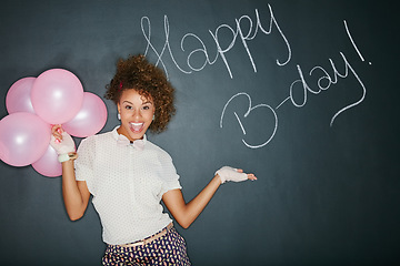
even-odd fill
[(43, 156), (32, 163), (32, 167), (41, 175), (56, 177), (62, 175), (62, 165), (58, 161), (58, 154), (52, 146), (48, 146)]

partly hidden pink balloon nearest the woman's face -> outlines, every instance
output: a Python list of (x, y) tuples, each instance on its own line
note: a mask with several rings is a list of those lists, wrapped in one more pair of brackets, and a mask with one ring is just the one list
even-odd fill
[(104, 102), (96, 94), (83, 92), (83, 103), (78, 114), (62, 129), (69, 134), (86, 137), (98, 133), (106, 124), (107, 108)]

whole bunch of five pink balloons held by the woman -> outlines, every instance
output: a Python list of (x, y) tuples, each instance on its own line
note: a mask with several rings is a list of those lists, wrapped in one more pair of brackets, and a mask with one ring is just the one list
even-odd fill
[(0, 121), (0, 158), (12, 166), (32, 167), (44, 176), (62, 174), (50, 146), (51, 126), (62, 124), (69, 134), (86, 137), (106, 124), (107, 108), (93, 93), (83, 92), (68, 70), (51, 69), (38, 78), (14, 82), (6, 96), (9, 115)]

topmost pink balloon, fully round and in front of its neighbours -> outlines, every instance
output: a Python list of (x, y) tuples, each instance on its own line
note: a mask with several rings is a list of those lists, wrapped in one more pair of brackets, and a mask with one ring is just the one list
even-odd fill
[(49, 124), (62, 124), (76, 116), (82, 106), (83, 88), (68, 70), (51, 69), (33, 83), (31, 101), (34, 112)]

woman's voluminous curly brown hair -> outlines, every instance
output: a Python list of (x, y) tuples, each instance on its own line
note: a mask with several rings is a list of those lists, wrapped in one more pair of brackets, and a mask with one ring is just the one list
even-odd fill
[(130, 55), (127, 60), (120, 59), (117, 63), (117, 73), (110, 84), (106, 86), (106, 99), (119, 103), (126, 90), (136, 90), (144, 98), (151, 98), (154, 106), (154, 121), (149, 130), (161, 133), (167, 129), (172, 115), (174, 89), (167, 80), (164, 72), (151, 64), (142, 54)]

